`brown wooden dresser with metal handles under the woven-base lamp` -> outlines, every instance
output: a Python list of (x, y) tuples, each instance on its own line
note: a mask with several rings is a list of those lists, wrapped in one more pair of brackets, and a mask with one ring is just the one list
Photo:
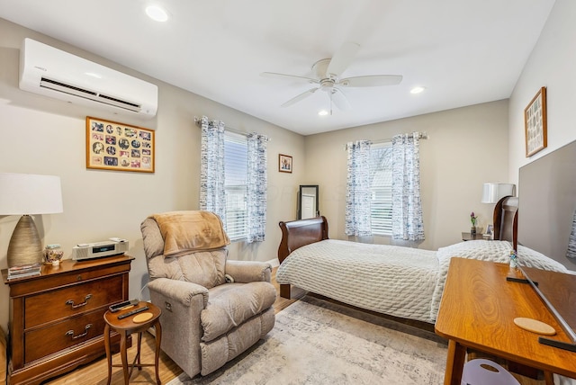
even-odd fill
[[(129, 300), (134, 258), (109, 256), (42, 266), (41, 275), (10, 286), (8, 384), (38, 384), (105, 354), (103, 314)], [(118, 345), (120, 336), (112, 336)]]

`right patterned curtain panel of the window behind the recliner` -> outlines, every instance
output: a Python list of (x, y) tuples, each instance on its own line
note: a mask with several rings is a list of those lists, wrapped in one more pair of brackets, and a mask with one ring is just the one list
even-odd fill
[(247, 160), (247, 242), (266, 237), (267, 142), (265, 135), (248, 135)]

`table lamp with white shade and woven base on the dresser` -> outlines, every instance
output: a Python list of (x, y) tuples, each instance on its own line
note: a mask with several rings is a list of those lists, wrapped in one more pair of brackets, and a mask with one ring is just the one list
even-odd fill
[(0, 173), (0, 215), (22, 215), (8, 245), (8, 267), (42, 262), (42, 243), (31, 214), (62, 211), (59, 176)]

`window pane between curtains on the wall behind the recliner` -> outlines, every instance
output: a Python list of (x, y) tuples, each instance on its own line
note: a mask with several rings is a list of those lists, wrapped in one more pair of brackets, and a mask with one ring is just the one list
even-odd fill
[(226, 233), (230, 240), (247, 237), (247, 138), (224, 134)]

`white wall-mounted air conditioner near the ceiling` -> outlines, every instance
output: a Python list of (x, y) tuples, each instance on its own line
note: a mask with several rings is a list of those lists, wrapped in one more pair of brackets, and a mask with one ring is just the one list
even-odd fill
[(157, 112), (157, 85), (31, 39), (20, 51), (20, 88), (140, 118)]

